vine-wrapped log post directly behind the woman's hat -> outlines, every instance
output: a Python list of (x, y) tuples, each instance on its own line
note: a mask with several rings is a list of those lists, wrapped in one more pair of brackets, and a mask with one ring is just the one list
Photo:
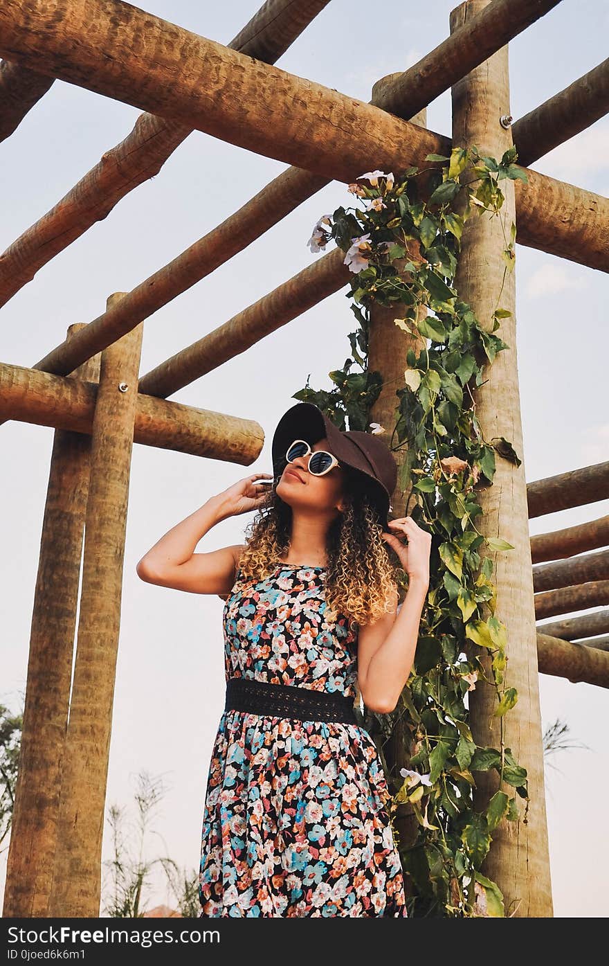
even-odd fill
[[(382, 77), (374, 84), (373, 102), (384, 99), (385, 92), (400, 76), (400, 73), (391, 73)], [(427, 108), (419, 111), (409, 119), (413, 124), (421, 128), (427, 127)], [(418, 245), (417, 245), (418, 247)], [(415, 254), (417, 252), (415, 251)], [(401, 270), (403, 262), (397, 263)], [(403, 273), (402, 273), (403, 274)], [(407, 278), (408, 273), (403, 274)], [(426, 310), (418, 310), (421, 316), (426, 315)], [(375, 302), (370, 310), (370, 333), (368, 340), (368, 368), (380, 372), (382, 376), (382, 387), (378, 398), (371, 407), (371, 421), (379, 423), (386, 431), (383, 437), (389, 446), (392, 445), (392, 434), (398, 421), (398, 399), (397, 389), (404, 386), (404, 370), (407, 368), (406, 355), (412, 349), (415, 355), (419, 355), (421, 349), (425, 347), (425, 339), (421, 335), (413, 335), (396, 326), (395, 319), (403, 317), (405, 306), (401, 302), (396, 302), (393, 306), (387, 307)], [(393, 445), (398, 442), (397, 437), (393, 440)], [(403, 444), (402, 444), (403, 447)], [(394, 451), (394, 457), (398, 465), (398, 483), (395, 492), (391, 497), (393, 519), (402, 517), (405, 512), (406, 500), (409, 496), (410, 487), (403, 490), (401, 487), (400, 469), (404, 463), (406, 449), (401, 448)], [(412, 735), (408, 727), (408, 722), (404, 715), (398, 716), (393, 725), (392, 733), (384, 746), (385, 761), (391, 775), (396, 778), (400, 775), (401, 768), (409, 766), (412, 757)], [(394, 827), (398, 833), (400, 848), (407, 849), (417, 838), (418, 822), (412, 806), (407, 802), (401, 803), (396, 810)], [(404, 879), (404, 889), (410, 894), (410, 881)]]

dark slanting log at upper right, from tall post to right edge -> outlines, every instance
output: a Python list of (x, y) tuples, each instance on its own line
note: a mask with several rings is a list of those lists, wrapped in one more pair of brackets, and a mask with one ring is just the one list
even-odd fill
[(532, 164), (557, 145), (590, 128), (607, 111), (609, 59), (516, 121), (512, 135), (518, 149), (518, 163)]

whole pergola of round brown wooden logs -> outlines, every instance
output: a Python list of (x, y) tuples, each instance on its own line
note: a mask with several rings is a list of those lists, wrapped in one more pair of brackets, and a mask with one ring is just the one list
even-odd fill
[[(145, 112), (124, 141), (0, 256), (0, 304), (158, 172), (193, 129), (291, 165), (131, 292), (110, 295), (97, 319), (69, 326), (66, 340), (44, 347), (39, 361), (0, 363), (0, 419), (55, 430), (5, 917), (99, 914), (133, 441), (254, 462), (263, 447), (257, 422), (167, 398), (344, 287), (349, 272), (336, 249), (140, 375), (144, 321), (328, 182), (349, 183), (371, 168), (419, 166), (429, 153), (450, 155), (453, 142), (475, 144), (491, 156), (515, 144), (528, 179), (506, 183), (517, 241), (609, 270), (609, 201), (528, 167), (607, 112), (609, 61), (515, 123), (510, 117), (508, 44), (560, 0), (466, 0), (451, 14), (447, 39), (414, 67), (379, 79), (370, 103), (273, 67), (328, 2), (267, 0), (228, 46), (119, 0), (5, 0), (0, 6), (0, 137), (10, 136), (55, 78)], [(449, 89), (450, 137), (429, 130), (425, 115), (429, 102)], [(503, 276), (499, 230), (481, 219), (463, 236), (457, 290), (480, 318), (492, 315), (489, 293)], [(501, 335), (511, 346), (513, 285), (512, 276), (502, 296), (512, 318), (502, 320)], [(394, 314), (374, 315), (369, 364), (388, 384), (393, 378), (401, 385), (408, 344)], [(394, 410), (393, 391), (383, 391), (372, 415), (385, 425)], [(504, 436), (522, 452), (515, 353), (500, 354), (490, 367), (477, 415), (488, 438)], [(539, 672), (609, 687), (609, 607), (542, 630), (537, 624), (609, 604), (609, 550), (603, 550), (609, 517), (533, 538), (529, 520), (608, 496), (609, 462), (527, 484), (524, 466), (506, 460), (498, 461), (493, 486), (482, 495), (484, 533), (500, 534), (515, 548), (494, 554), (496, 614), (509, 631), (506, 676), (519, 696), (504, 720), (504, 740), (527, 768), (531, 795), (528, 822), (515, 823), (514, 831), (504, 820), (494, 832), (484, 874), (517, 916), (552, 915)], [(402, 494), (393, 506), (403, 512)], [(489, 687), (470, 696), (470, 725), (482, 746), (498, 741), (493, 699)], [(482, 810), (496, 791), (492, 782), (490, 773), (477, 773), (475, 807)]]

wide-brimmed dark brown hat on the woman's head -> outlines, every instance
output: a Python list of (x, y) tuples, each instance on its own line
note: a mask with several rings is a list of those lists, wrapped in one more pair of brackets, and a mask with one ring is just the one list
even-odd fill
[(286, 452), (293, 440), (306, 440), (311, 446), (326, 437), (330, 451), (341, 464), (356, 469), (370, 482), (370, 494), (378, 510), (381, 526), (387, 528), (390, 501), (396, 489), (398, 467), (384, 440), (361, 430), (340, 430), (314, 403), (297, 403), (277, 424), (271, 456), (273, 473), (281, 476)]

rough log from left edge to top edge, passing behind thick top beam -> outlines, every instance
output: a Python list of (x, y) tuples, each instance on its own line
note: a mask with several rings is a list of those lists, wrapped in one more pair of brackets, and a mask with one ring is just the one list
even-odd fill
[[(328, 2), (266, 0), (229, 46), (273, 64)], [(32, 74), (19, 65), (9, 67)], [(53, 82), (42, 74), (35, 76), (41, 77), (47, 87)], [(190, 125), (142, 114), (125, 140), (104, 152), (95, 167), (0, 257), (0, 305), (13, 298), (55, 255), (105, 218), (129, 191), (157, 174), (191, 132)]]

